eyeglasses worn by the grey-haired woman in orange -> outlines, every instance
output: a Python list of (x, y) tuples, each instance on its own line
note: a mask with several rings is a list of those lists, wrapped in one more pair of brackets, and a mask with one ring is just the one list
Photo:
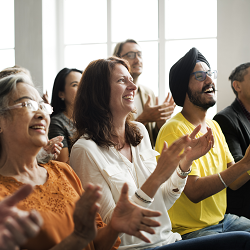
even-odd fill
[(41, 102), (41, 103), (38, 103), (36, 101), (33, 101), (33, 100), (29, 100), (27, 102), (22, 102), (22, 103), (18, 103), (16, 105), (13, 105), (13, 106), (9, 106), (6, 108), (6, 110), (9, 110), (9, 109), (16, 109), (16, 108), (28, 108), (29, 110), (31, 111), (37, 111), (39, 108), (44, 111), (45, 113), (47, 114), (52, 114), (53, 112), (53, 108), (47, 104), (47, 103), (44, 103), (44, 102)]

